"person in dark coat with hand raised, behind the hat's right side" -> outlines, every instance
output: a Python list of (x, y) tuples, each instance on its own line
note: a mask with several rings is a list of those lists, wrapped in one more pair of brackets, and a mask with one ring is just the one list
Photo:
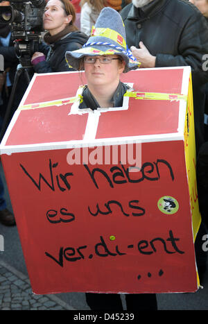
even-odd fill
[[(207, 21), (186, 0), (132, 0), (121, 10), (128, 47), (141, 67), (191, 66), (196, 151), (204, 139), (207, 71), (202, 59), (208, 53)], [(132, 46), (132, 47), (131, 47)]]

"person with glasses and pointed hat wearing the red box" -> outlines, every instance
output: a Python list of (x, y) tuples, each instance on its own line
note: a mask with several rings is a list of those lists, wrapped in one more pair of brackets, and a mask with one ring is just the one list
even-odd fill
[[(125, 42), (125, 28), (121, 15), (112, 8), (103, 8), (92, 28), (92, 35), (82, 49), (67, 51), (69, 67), (85, 70), (87, 85), (83, 87), (79, 108), (121, 107), (128, 86), (120, 75), (137, 69), (139, 62), (132, 56)], [(86, 293), (93, 310), (123, 310), (117, 293)], [(157, 309), (155, 293), (126, 294), (127, 309)]]

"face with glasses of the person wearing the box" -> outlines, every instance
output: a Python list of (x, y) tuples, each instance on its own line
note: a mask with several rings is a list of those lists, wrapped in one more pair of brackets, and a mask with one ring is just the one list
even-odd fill
[[(119, 58), (116, 55), (107, 55), (107, 56), (94, 56), (94, 58)], [(125, 68), (125, 62), (122, 60), (112, 60), (108, 64), (101, 64), (99, 60), (96, 62), (87, 63), (85, 62), (85, 76), (87, 78), (87, 85), (97, 86), (97, 85), (110, 85), (111, 83), (119, 80), (120, 74)]]

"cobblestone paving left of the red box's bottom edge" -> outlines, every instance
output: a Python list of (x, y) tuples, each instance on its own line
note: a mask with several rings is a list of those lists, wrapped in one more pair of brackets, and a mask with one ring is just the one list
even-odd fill
[(35, 295), (29, 279), (0, 260), (0, 310), (76, 310), (55, 295)]

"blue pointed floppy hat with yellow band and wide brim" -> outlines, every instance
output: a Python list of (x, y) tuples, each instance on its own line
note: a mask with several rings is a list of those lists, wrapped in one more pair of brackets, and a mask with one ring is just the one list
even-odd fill
[(119, 55), (125, 60), (125, 70), (137, 69), (140, 63), (132, 56), (125, 42), (125, 26), (121, 15), (116, 10), (106, 7), (101, 10), (91, 36), (82, 49), (67, 51), (69, 67), (80, 70), (80, 60), (84, 56)]

